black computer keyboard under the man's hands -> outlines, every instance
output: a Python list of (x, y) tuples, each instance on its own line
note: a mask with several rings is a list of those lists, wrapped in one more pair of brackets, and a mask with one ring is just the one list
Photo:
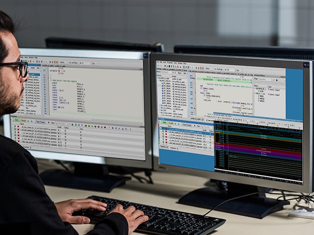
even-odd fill
[(223, 225), (226, 220), (192, 214), (182, 211), (172, 211), (168, 209), (132, 203), (112, 198), (90, 196), (88, 198), (102, 201), (107, 204), (105, 211), (93, 209), (81, 210), (73, 215), (84, 215), (90, 218), (95, 224), (110, 212), (117, 204), (121, 204), (124, 209), (134, 206), (136, 210), (143, 211), (149, 220), (138, 226), (135, 232), (142, 232), (157, 235), (206, 235)]

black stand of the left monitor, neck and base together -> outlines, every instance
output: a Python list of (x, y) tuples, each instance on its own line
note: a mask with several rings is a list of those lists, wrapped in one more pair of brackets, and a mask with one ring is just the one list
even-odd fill
[(45, 185), (110, 192), (124, 185), (131, 177), (110, 175), (108, 166), (101, 164), (74, 163), (74, 172), (51, 169), (40, 173)]

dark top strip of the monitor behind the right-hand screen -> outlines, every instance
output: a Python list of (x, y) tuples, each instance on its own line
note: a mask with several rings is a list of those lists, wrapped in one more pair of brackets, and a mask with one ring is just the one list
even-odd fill
[(314, 60), (314, 48), (176, 45), (174, 52)]

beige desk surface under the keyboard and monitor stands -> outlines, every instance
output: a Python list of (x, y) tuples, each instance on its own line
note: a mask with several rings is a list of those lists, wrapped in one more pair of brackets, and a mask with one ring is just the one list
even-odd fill
[[(186, 180), (183, 181), (183, 177), (186, 178)], [(127, 182), (125, 186), (114, 188), (110, 193), (51, 186), (46, 186), (46, 190), (54, 202), (71, 198), (86, 198), (90, 195), (99, 195), (190, 213), (204, 214), (208, 211), (206, 209), (176, 203), (178, 199), (187, 192), (203, 187), (206, 179), (154, 172), (153, 180), (155, 180), (154, 185), (141, 184), (135, 180), (131, 180)], [(182, 185), (180, 182), (184, 182), (185, 184)], [(227, 220), (223, 226), (218, 228), (212, 234), (312, 234), (314, 220), (288, 216), (288, 212), (292, 210), (294, 203), (295, 202), (292, 202), (291, 205), (286, 206), (285, 210), (272, 213), (263, 219), (249, 218), (220, 211), (211, 211), (209, 216)], [(74, 225), (74, 227), (79, 234), (84, 234), (92, 228), (92, 225)], [(138, 233), (133, 234), (136, 235)]]

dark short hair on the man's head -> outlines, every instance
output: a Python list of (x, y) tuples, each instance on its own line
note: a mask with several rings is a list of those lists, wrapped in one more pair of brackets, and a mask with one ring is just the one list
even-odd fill
[[(16, 25), (14, 24), (12, 18), (3, 11), (0, 11), (0, 32), (10, 32), (13, 34), (15, 30)], [(8, 53), (8, 49), (5, 47), (0, 37), (0, 62), (2, 62), (5, 57), (7, 57)]]

